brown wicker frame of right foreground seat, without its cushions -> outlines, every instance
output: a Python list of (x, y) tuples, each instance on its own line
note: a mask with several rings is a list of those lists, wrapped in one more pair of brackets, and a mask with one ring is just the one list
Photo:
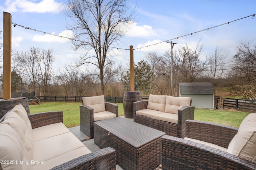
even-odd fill
[[(228, 148), (238, 128), (187, 120), (186, 137)], [(255, 170), (256, 164), (194, 141), (164, 135), (162, 170)]]

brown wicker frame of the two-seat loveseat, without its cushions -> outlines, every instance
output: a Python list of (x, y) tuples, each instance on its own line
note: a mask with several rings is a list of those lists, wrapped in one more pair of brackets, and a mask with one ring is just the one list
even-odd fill
[(134, 102), (134, 105), (133, 105), (134, 122), (151, 127), (153, 129), (157, 129), (159, 131), (163, 131), (166, 133), (166, 135), (183, 138), (185, 137), (185, 133), (186, 133), (186, 125), (185, 125), (186, 120), (194, 119), (195, 107), (191, 106), (191, 103), (192, 103), (192, 100), (190, 100), (190, 106), (185, 106), (178, 109), (178, 123), (176, 124), (176, 123), (152, 119), (144, 115), (136, 114), (137, 110), (142, 110), (147, 108), (148, 100)]

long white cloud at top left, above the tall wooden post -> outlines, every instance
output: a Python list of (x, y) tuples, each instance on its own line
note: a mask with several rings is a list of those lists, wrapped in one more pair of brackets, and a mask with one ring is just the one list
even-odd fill
[(62, 2), (54, 0), (42, 0), (38, 3), (35, 0), (6, 0), (6, 11), (8, 12), (35, 12), (35, 13), (59, 13), (66, 7)]

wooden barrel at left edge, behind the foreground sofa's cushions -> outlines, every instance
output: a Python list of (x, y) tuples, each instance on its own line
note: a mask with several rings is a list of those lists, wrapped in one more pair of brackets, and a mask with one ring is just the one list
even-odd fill
[(21, 104), (27, 111), (28, 115), (30, 114), (28, 107), (28, 98), (11, 98), (11, 99), (0, 99), (0, 116), (5, 115), (7, 111), (11, 110), (17, 104)]

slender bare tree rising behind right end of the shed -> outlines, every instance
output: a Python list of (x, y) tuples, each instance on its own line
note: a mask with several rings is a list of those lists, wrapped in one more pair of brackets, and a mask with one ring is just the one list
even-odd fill
[(206, 61), (208, 62), (207, 77), (210, 79), (214, 94), (216, 92), (216, 79), (222, 77), (224, 72), (224, 59), (226, 57), (222, 53), (222, 50), (219, 47), (216, 47), (214, 54), (208, 56)]

